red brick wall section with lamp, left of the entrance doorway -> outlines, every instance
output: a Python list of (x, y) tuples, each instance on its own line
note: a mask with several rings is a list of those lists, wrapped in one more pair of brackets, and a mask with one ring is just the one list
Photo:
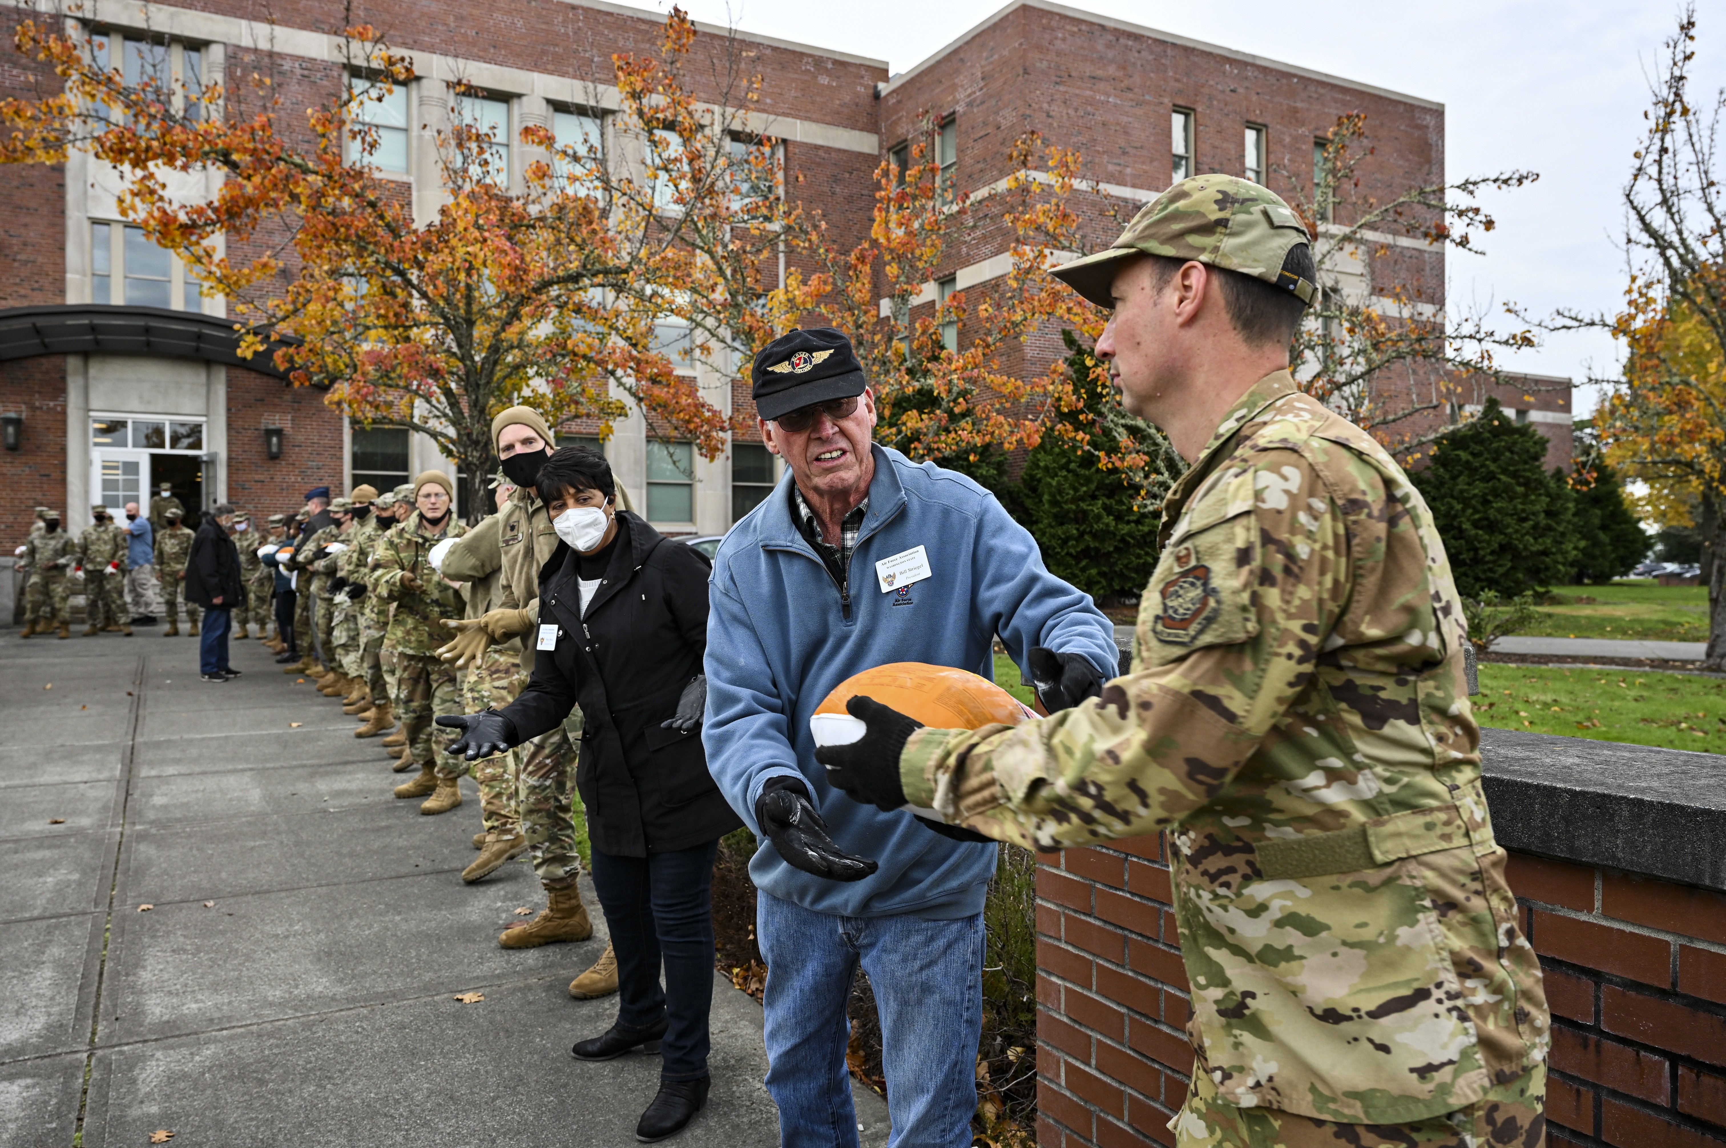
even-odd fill
[(10, 554), (38, 506), (66, 508), (66, 356), (0, 363), (0, 414), (24, 416), (17, 451), (0, 451), (0, 552)]

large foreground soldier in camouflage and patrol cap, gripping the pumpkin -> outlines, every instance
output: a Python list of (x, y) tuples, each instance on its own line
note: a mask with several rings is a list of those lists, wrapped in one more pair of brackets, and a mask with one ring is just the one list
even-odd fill
[[(1402, 468), (1289, 376), (1301, 307), (1274, 292), (1313, 295), (1305, 228), (1198, 176), (1055, 274), (1113, 307), (1098, 357), (1193, 461), (1132, 672), (1018, 727), (858, 697), (866, 735), (816, 758), (860, 801), (1037, 849), (1169, 834), (1196, 1055), (1177, 1145), (1534, 1148), (1548, 1013), (1462, 602)], [(1231, 292), (1260, 293), (1257, 323)]]

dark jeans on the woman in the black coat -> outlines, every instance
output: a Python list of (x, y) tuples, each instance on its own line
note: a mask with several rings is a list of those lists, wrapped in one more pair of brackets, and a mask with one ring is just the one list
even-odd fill
[[(713, 860), (720, 842), (618, 856), (594, 849), (594, 893), (618, 958), (618, 1029), (651, 1032), (663, 1081), (708, 1075), (713, 1008)], [(659, 963), (665, 962), (665, 987)]]

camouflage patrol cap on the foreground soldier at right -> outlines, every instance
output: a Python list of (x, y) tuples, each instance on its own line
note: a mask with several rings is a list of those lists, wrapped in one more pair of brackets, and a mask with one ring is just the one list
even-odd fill
[(1198, 261), (1250, 274), (1310, 304), (1319, 285), (1282, 264), (1301, 243), (1307, 224), (1282, 197), (1239, 176), (1193, 176), (1174, 185), (1132, 218), (1108, 250), (1049, 271), (1098, 307), (1113, 307), (1108, 293), (1120, 261), (1134, 255)]

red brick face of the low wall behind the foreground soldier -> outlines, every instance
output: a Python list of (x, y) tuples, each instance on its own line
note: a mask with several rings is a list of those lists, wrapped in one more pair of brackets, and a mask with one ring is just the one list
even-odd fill
[[(1548, 1143), (1726, 1145), (1726, 896), (1510, 855), (1553, 1013)], [(1037, 1143), (1172, 1145), (1193, 1050), (1160, 837), (1037, 868)]]

